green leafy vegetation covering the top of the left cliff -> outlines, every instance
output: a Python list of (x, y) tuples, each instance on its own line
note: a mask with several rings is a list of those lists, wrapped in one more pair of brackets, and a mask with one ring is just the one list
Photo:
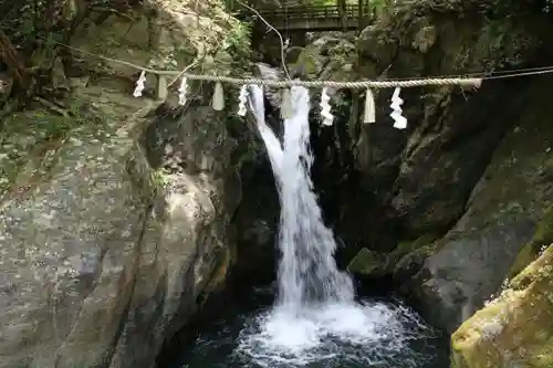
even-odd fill
[[(105, 130), (101, 125), (109, 118), (96, 112), (94, 106), (101, 105), (104, 111), (111, 102), (117, 105), (118, 92), (108, 103), (103, 101), (102, 96), (106, 94), (103, 87), (96, 94), (88, 86), (87, 92), (83, 92), (84, 87), (80, 86), (81, 74), (71, 81), (69, 75), (64, 75), (67, 70), (72, 70), (69, 65), (77, 67), (86, 83), (88, 78), (108, 76), (116, 84), (125, 86), (128, 82), (124, 76), (128, 78), (128, 75), (123, 74), (127, 71), (122, 72), (123, 76), (114, 76), (114, 69), (107, 62), (90, 54), (140, 65), (159, 56), (155, 60), (159, 60), (159, 64), (153, 67), (174, 70), (180, 70), (189, 65), (187, 61), (191, 63), (195, 60), (198, 61), (196, 71), (202, 73), (242, 73), (249, 65), (251, 27), (230, 17), (220, 0), (180, 0), (178, 6), (189, 8), (191, 14), (196, 12), (198, 22), (182, 30), (177, 28), (174, 35), (178, 39), (154, 41), (165, 42), (159, 45), (150, 44), (144, 38), (135, 42), (136, 36), (133, 39), (129, 30), (134, 28), (135, 34), (154, 34), (152, 39), (156, 40), (156, 30), (149, 28), (152, 15), (164, 22), (170, 21), (171, 13), (164, 13), (168, 1), (153, 0), (159, 2), (157, 10), (160, 14), (153, 14), (138, 0), (75, 1), (79, 0), (17, 3), (0, 0), (0, 46), (8, 44), (13, 56), (13, 60), (6, 60), (4, 54), (1, 56), (0, 84), (2, 75), (7, 77), (1, 72), (8, 69), (13, 75), (14, 67), (27, 73), (32, 81), (30, 88), (21, 85), (11, 94), (8, 93), (9, 98), (6, 98), (7, 94), (0, 94), (0, 201), (2, 193), (13, 190), (19, 192), (21, 182), (32, 182), (34, 179), (28, 177), (29, 172), (48, 171), (55, 161), (59, 148), (67, 139), (73, 139), (74, 134), (88, 128)], [(96, 32), (91, 36), (86, 27), (95, 27)], [(79, 48), (88, 54), (72, 52), (64, 45)], [(60, 64), (63, 66), (60, 67)], [(45, 93), (55, 85), (52, 83), (53, 76), (60, 70), (65, 82), (75, 81), (76, 87), (72, 87), (71, 92), (54, 88), (54, 94)], [(83, 94), (90, 95), (82, 98)], [(10, 108), (6, 108), (8, 105)], [(114, 107), (116, 111), (119, 108), (124, 107)]]

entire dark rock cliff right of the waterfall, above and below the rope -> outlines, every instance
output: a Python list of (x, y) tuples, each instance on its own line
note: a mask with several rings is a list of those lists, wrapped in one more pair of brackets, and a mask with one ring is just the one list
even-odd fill
[[(359, 36), (359, 71), (411, 77), (549, 65), (551, 21), (538, 3), (399, 1), (378, 9)], [(383, 91), (379, 123), (354, 136), (356, 168), (384, 214), (366, 221), (403, 238), (379, 250), (390, 257), (385, 271), (450, 333), (500, 288), (550, 206), (550, 83), (406, 88), (405, 132), (392, 127)]]

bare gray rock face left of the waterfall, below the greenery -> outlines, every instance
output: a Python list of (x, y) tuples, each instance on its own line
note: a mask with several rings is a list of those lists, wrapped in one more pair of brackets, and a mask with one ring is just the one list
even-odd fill
[(48, 176), (20, 175), (0, 207), (0, 367), (150, 367), (225, 282), (232, 140), (209, 106), (160, 120), (174, 155), (158, 164), (179, 168), (163, 174), (137, 139), (152, 102), (103, 85), (74, 94), (104, 125), (70, 132)]

